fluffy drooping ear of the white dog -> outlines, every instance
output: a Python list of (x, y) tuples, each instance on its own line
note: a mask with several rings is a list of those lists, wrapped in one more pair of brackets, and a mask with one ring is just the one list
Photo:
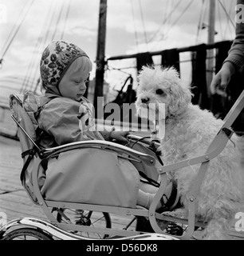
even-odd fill
[(167, 70), (167, 76), (171, 79), (171, 86), (169, 90), (168, 111), (171, 115), (179, 115), (191, 103), (191, 90), (185, 86), (179, 78), (177, 70), (171, 68)]

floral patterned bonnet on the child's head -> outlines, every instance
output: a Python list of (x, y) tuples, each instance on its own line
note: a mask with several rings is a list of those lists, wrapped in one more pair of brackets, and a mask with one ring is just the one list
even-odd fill
[(53, 41), (47, 46), (41, 56), (41, 80), (45, 86), (58, 86), (61, 78), (72, 62), (81, 56), (88, 55), (73, 43)]

